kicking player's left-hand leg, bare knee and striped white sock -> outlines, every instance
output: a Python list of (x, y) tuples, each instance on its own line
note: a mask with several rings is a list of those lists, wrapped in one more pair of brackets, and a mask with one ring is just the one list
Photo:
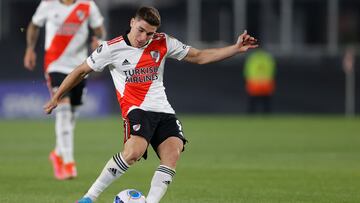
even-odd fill
[(126, 141), (124, 150), (110, 158), (99, 177), (78, 202), (87, 203), (86, 201), (89, 199), (91, 202), (95, 201), (112, 182), (122, 176), (132, 164), (143, 156), (147, 147), (148, 142), (145, 138), (131, 136), (131, 138)]

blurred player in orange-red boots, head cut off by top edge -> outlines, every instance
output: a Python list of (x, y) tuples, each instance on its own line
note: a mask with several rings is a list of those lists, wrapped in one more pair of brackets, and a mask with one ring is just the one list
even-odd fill
[[(35, 45), (40, 27), (45, 25), (44, 72), (50, 94), (55, 93), (64, 78), (88, 56), (87, 39), (92, 29), (91, 47), (96, 49), (104, 38), (103, 17), (91, 0), (43, 0), (29, 23), (24, 66), (34, 70)], [(78, 106), (82, 104), (86, 81), (58, 98), (55, 115), (56, 144), (49, 159), (56, 179), (65, 180), (77, 176), (74, 160), (74, 128)]]

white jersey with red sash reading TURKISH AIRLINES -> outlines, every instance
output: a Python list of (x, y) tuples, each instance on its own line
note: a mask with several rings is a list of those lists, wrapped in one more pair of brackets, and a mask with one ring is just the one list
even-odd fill
[(94, 71), (109, 67), (124, 118), (136, 108), (174, 114), (163, 83), (165, 59), (182, 60), (189, 49), (164, 33), (155, 33), (142, 48), (132, 47), (123, 35), (103, 42), (86, 61)]

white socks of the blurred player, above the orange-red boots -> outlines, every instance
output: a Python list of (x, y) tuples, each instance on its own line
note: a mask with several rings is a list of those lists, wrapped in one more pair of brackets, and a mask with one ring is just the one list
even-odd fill
[(70, 104), (59, 104), (56, 108), (55, 152), (62, 156), (64, 163), (74, 162), (74, 132)]

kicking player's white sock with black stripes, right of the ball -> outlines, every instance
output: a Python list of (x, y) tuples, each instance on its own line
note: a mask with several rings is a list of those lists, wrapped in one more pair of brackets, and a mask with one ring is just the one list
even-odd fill
[(160, 165), (151, 180), (151, 188), (146, 197), (146, 203), (160, 202), (174, 176), (175, 170), (165, 165)]

